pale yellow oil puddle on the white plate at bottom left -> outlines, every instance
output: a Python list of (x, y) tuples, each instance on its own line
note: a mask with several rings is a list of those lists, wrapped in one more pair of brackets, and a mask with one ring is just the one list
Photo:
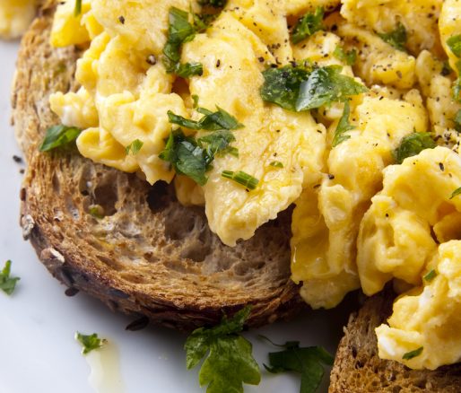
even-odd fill
[(96, 393), (124, 393), (117, 346), (108, 341), (85, 356), (91, 372), (88, 382)]

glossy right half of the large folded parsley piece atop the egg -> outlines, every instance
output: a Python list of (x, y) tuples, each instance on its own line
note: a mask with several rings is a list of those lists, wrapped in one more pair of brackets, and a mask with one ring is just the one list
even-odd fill
[(296, 110), (320, 108), (331, 102), (343, 101), (349, 96), (368, 92), (363, 84), (341, 74), (342, 69), (340, 65), (329, 65), (317, 68), (309, 74), (309, 79), (300, 85)]

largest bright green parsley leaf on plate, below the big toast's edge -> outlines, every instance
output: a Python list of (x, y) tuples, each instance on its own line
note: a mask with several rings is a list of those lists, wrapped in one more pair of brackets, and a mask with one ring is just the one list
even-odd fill
[(243, 383), (259, 384), (261, 373), (251, 354), (252, 345), (239, 336), (250, 310), (247, 306), (231, 319), (224, 317), (220, 325), (199, 327), (187, 337), (187, 370), (206, 356), (198, 380), (201, 386), (208, 385), (207, 393), (243, 393)]

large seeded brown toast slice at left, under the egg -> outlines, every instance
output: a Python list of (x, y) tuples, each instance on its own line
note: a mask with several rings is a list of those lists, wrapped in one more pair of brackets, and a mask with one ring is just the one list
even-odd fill
[[(230, 248), (204, 209), (180, 205), (165, 183), (151, 187), (72, 150), (39, 153), (45, 130), (59, 123), (49, 94), (78, 88), (81, 50), (48, 44), (55, 4), (42, 5), (23, 37), (13, 85), (13, 124), (28, 163), (21, 225), (50, 273), (113, 310), (179, 329), (215, 324), (247, 304), (249, 326), (303, 307), (290, 280), (291, 211)], [(91, 216), (90, 205), (106, 216)]]

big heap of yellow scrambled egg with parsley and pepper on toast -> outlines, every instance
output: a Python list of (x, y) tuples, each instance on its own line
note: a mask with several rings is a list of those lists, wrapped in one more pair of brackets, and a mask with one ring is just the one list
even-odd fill
[(80, 153), (174, 182), (228, 246), (295, 205), (310, 306), (394, 281), (411, 289), (376, 329), (379, 356), (459, 362), (461, 2), (216, 3), (57, 6), (51, 44), (84, 51), (78, 89), (50, 105)]

